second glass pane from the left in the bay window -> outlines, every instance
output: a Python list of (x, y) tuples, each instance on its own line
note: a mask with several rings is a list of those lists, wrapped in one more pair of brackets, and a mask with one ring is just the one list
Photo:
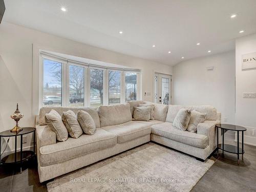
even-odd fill
[(69, 66), (69, 105), (84, 106), (84, 68)]

